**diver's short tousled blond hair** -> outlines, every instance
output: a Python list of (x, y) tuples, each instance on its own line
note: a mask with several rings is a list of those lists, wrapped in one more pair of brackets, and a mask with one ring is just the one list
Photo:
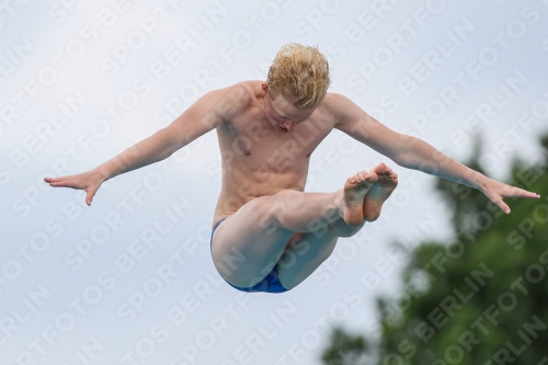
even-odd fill
[(298, 109), (318, 106), (328, 92), (329, 64), (317, 47), (297, 43), (279, 49), (266, 79), (269, 95), (282, 94)]

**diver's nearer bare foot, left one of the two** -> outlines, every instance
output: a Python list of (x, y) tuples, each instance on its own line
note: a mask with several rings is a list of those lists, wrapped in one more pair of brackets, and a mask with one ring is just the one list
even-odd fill
[(350, 226), (364, 221), (364, 197), (377, 181), (375, 172), (361, 171), (346, 179), (343, 189), (343, 219)]

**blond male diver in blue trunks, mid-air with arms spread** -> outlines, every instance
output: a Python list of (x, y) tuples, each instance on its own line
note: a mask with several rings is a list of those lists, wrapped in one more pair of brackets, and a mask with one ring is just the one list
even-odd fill
[(285, 45), (266, 82), (208, 92), (165, 128), (93, 170), (45, 181), (85, 191), (90, 205), (104, 181), (163, 160), (215, 128), (222, 187), (213, 220), (213, 261), (235, 288), (269, 293), (289, 290), (307, 278), (339, 237), (351, 237), (378, 218), (398, 184), (396, 172), (380, 163), (350, 176), (336, 192), (305, 193), (310, 153), (333, 128), (401, 167), (435, 166), (432, 174), (480, 190), (506, 214), (503, 197), (539, 197), (387, 128), (345, 96), (328, 93), (329, 84), (329, 65), (317, 48)]

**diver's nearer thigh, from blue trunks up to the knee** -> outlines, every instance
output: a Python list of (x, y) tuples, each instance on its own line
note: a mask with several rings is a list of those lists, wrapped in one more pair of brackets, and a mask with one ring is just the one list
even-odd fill
[(282, 256), (293, 231), (273, 218), (273, 196), (261, 196), (227, 217), (213, 236), (212, 255), (230, 284), (250, 287), (266, 276)]

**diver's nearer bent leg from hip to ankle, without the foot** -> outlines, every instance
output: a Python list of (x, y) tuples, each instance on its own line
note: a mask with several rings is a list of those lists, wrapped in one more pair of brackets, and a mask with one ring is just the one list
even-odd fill
[(215, 266), (230, 284), (253, 286), (272, 271), (296, 231), (316, 231), (340, 219), (340, 192), (296, 191), (254, 198), (215, 231)]

